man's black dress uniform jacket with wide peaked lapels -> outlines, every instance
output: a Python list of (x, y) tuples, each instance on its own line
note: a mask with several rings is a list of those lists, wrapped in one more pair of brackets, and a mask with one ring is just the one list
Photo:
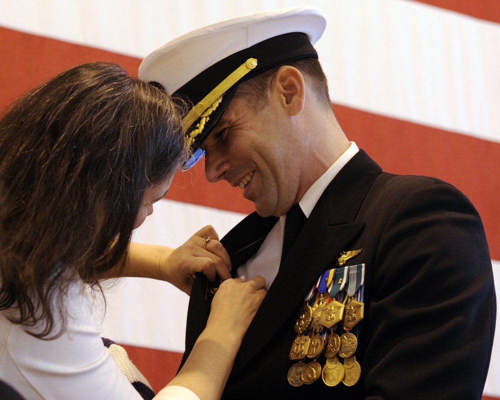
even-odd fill
[[(277, 218), (250, 214), (221, 241), (233, 271)], [(365, 264), (359, 322), (360, 380), (291, 386), (288, 358), (304, 296), (341, 251)], [(210, 310), (210, 283), (195, 279), (188, 356)], [(360, 150), (325, 189), (253, 318), (222, 398), (479, 399), (493, 341), (496, 297), (477, 211), (439, 179), (383, 172)], [(321, 360), (321, 359), (320, 359)], [(307, 361), (305, 361), (307, 362)], [(322, 358), (324, 364), (324, 358)]]

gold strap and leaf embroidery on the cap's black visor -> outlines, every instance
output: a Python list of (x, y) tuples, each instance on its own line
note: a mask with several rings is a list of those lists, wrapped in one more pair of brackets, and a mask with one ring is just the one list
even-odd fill
[(210, 119), (210, 114), (218, 107), (222, 101), (222, 95), (234, 83), (241, 79), (244, 75), (250, 72), (257, 66), (255, 58), (248, 58), (244, 64), (241, 64), (229, 76), (222, 80), (215, 88), (210, 91), (203, 99), (190, 109), (187, 115), (182, 119), (182, 130), (185, 133), (187, 129), (196, 121), (201, 118), (196, 124), (196, 127), (186, 135), (187, 144), (190, 146), (194, 143), (196, 136), (201, 133), (205, 127), (206, 122)]

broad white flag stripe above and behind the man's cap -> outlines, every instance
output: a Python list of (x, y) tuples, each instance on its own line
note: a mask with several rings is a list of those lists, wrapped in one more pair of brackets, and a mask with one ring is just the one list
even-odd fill
[[(328, 19), (316, 48), (334, 102), (500, 141), (499, 24), (407, 0), (308, 3)], [(302, 4), (0, 0), (0, 24), (142, 58), (195, 26)]]

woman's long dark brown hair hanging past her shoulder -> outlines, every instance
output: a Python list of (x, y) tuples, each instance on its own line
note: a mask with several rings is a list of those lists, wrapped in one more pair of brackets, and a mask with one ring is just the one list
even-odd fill
[[(145, 190), (188, 158), (168, 94), (112, 63), (75, 66), (0, 120), (0, 309), (65, 326), (64, 295), (122, 271)], [(56, 313), (54, 313), (56, 312)], [(58, 313), (58, 314), (57, 314)]]

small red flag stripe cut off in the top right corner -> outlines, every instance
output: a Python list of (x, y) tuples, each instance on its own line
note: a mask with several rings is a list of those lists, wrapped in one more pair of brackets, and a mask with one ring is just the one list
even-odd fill
[(414, 0), (421, 3), (435, 5), (474, 18), (500, 23), (499, 0)]

